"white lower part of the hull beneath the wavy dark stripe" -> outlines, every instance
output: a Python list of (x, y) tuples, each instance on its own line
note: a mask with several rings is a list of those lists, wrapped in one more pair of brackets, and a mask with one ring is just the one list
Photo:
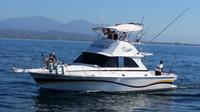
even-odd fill
[(50, 83), (40, 84), (41, 88), (64, 90), (64, 91), (104, 91), (104, 92), (128, 92), (128, 91), (153, 91), (153, 90), (168, 90), (176, 88), (172, 84), (156, 84), (143, 88), (133, 88), (123, 85), (105, 83), (105, 82), (65, 82), (65, 83)]

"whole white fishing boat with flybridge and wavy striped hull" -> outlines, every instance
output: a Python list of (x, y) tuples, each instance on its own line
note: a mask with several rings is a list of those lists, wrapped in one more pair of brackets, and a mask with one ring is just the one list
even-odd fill
[[(101, 35), (72, 64), (54, 59), (42, 68), (13, 70), (29, 73), (41, 88), (67, 91), (147, 91), (176, 88), (173, 73), (156, 75), (142, 63), (150, 53), (139, 52), (128, 33), (143, 30), (143, 24), (127, 23), (93, 28)], [(146, 55), (147, 54), (147, 55)]]

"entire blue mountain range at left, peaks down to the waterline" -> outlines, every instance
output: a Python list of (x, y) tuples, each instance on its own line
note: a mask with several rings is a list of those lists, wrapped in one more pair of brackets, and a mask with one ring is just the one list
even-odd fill
[(47, 17), (20, 17), (0, 20), (0, 36), (28, 39), (94, 40), (93, 27), (87, 20), (62, 23)]

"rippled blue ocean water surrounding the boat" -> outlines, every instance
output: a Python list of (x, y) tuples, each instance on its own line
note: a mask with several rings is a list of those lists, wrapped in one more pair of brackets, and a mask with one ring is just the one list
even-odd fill
[(164, 70), (178, 75), (177, 89), (161, 92), (61, 92), (43, 90), (29, 74), (15, 74), (12, 67), (40, 67), (42, 54), (55, 51), (71, 63), (90, 43), (0, 39), (0, 112), (199, 112), (200, 47), (140, 45), (154, 55), (143, 59), (154, 69), (160, 59)]

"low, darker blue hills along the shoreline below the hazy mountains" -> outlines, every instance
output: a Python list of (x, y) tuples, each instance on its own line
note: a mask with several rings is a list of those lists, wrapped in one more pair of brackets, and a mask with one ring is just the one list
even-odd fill
[(19, 39), (41, 39), (41, 40), (72, 40), (72, 41), (93, 41), (97, 37), (91, 34), (65, 33), (61, 31), (31, 31), (0, 29), (0, 38), (19, 38)]

